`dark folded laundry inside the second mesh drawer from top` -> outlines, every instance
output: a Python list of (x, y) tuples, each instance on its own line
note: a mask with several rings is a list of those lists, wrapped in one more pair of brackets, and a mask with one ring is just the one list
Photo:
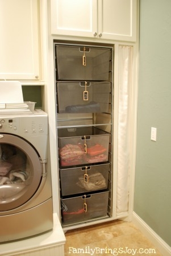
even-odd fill
[(91, 101), (90, 103), (84, 104), (84, 105), (66, 106), (65, 112), (66, 113), (96, 113), (96, 112), (101, 112), (101, 107), (99, 103)]

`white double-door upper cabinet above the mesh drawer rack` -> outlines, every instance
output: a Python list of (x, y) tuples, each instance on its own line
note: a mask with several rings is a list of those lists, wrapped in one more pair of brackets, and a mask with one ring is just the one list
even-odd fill
[(51, 0), (51, 32), (136, 41), (137, 0)]

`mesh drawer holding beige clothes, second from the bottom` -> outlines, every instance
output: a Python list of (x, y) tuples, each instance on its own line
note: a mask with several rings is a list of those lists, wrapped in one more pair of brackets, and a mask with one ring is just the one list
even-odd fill
[(107, 189), (109, 163), (60, 169), (62, 196)]

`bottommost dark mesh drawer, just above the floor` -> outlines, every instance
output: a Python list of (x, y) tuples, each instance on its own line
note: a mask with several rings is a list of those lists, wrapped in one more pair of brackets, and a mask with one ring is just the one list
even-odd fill
[(74, 224), (106, 216), (109, 191), (61, 199), (62, 221)]

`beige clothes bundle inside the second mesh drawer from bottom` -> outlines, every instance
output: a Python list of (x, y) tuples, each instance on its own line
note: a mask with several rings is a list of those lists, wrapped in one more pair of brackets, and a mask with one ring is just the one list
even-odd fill
[(85, 182), (84, 177), (79, 177), (77, 185), (81, 188), (85, 188), (87, 191), (94, 191), (106, 187), (106, 179), (100, 172), (89, 175), (88, 182)]

